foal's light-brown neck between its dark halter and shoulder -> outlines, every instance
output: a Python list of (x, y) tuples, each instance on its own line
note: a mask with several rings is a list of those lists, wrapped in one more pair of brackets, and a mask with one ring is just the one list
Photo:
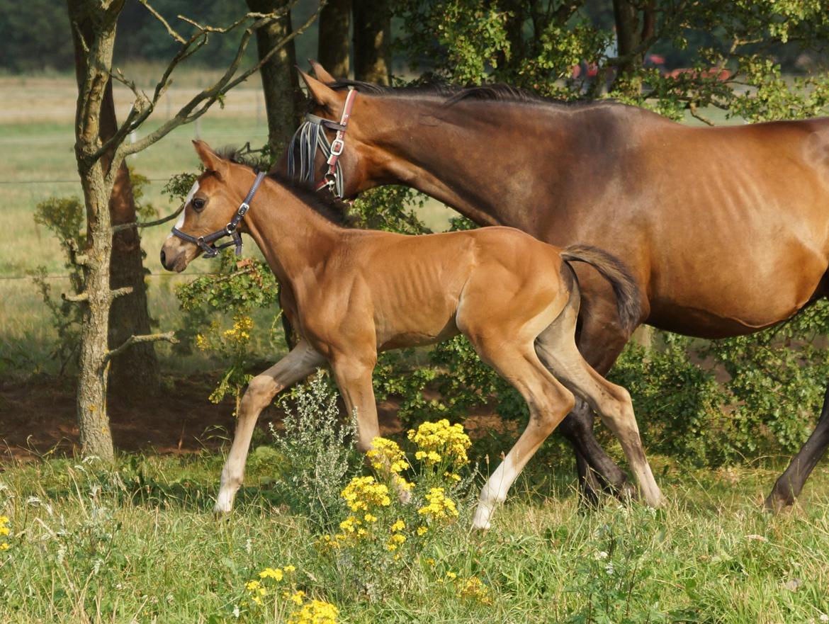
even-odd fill
[(245, 220), (274, 275), (292, 285), (330, 256), (342, 232), (272, 181), (262, 186)]

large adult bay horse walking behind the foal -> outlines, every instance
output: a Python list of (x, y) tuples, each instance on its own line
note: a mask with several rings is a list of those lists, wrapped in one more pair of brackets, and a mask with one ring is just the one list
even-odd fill
[[(358, 92), (329, 176), (346, 198), (404, 184), (480, 225), (608, 249), (639, 284), (638, 322), (689, 336), (759, 331), (827, 295), (829, 119), (690, 128), (623, 104), (558, 104), (505, 86), (388, 89), (315, 70), (320, 80), (302, 76), (327, 136), (347, 89)], [(318, 157), (311, 176), (327, 172)], [(576, 270), (579, 350), (604, 374), (630, 331), (604, 280)], [(622, 488), (592, 427), (584, 404), (560, 427), (579, 475), (590, 467)], [(827, 446), (829, 391), (766, 504), (791, 505)]]

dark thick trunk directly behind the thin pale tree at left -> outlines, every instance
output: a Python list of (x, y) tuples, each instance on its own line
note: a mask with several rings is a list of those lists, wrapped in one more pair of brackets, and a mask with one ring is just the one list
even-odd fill
[[(101, 138), (106, 140), (112, 137), (117, 129), (112, 80), (109, 80), (101, 109)], [(101, 159), (104, 169), (109, 168), (111, 159), (111, 152)], [(115, 177), (112, 196), (109, 198), (109, 214), (113, 225), (136, 220), (133, 186), (126, 163), (119, 167)], [(112, 288), (128, 286), (133, 289), (124, 297), (115, 299), (109, 310), (109, 347), (114, 349), (133, 334), (150, 332), (147, 286), (144, 282), (143, 253), (138, 228), (122, 230), (114, 235), (109, 267), (109, 285)], [(155, 345), (145, 342), (124, 351), (112, 360), (109, 375), (115, 390), (128, 391), (138, 396), (158, 394), (161, 380)]]

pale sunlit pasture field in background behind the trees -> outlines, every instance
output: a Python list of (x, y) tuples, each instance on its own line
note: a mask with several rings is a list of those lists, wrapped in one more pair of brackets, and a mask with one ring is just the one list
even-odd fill
[[(153, 75), (153, 67), (141, 66), (130, 73), (136, 74), (139, 86), (149, 88), (148, 76)], [(158, 119), (167, 119), (197, 89), (208, 85), (211, 77), (209, 71), (204, 75), (185, 73), (159, 104)], [(0, 76), (0, 228), (7, 232), (0, 242), (0, 370), (5, 364), (7, 369), (29, 374), (57, 371), (50, 355), (56, 334), (29, 273), (39, 266), (46, 267), (54, 296), (69, 286), (68, 280), (61, 277), (66, 273), (61, 248), (51, 232), (35, 223), (33, 214), (36, 205), (50, 197), (80, 196), (73, 152), (75, 95), (75, 80), (71, 76)], [(127, 89), (115, 87), (114, 95), (119, 119), (124, 119), (130, 94)], [(143, 133), (153, 127), (149, 123)], [(144, 188), (143, 202), (151, 204), (160, 216), (177, 208), (175, 202), (162, 195), (169, 177), (197, 171), (198, 158), (191, 146), (191, 139), (196, 137), (215, 148), (249, 141), (254, 148), (264, 145), (268, 128), (259, 77), (231, 91), (224, 108), (214, 107), (197, 125), (178, 128), (152, 148), (130, 158), (128, 164), (133, 171), (150, 181)], [(422, 214), (429, 226), (441, 230), (448, 224), (450, 213), (433, 201)], [(141, 232), (147, 253), (144, 266), (150, 272), (150, 312), (164, 331), (177, 327), (175, 285), (190, 281), (196, 273), (211, 271), (207, 261), (194, 264), (182, 275), (163, 270), (158, 250), (169, 228), (170, 224), (165, 224)], [(245, 254), (258, 255), (255, 245), (246, 245)], [(259, 325), (268, 327), (268, 320), (261, 321)], [(168, 370), (216, 367), (204, 356), (170, 358), (164, 357), (170, 352), (169, 346), (159, 344), (156, 348)]]

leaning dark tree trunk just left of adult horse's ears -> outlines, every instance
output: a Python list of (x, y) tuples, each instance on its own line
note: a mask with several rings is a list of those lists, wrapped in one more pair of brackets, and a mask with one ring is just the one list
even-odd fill
[[(260, 13), (273, 12), (286, 7), (288, 0), (247, 0), (251, 11)], [(256, 31), (256, 46), (259, 59), (263, 58), (274, 46), (291, 33), (291, 13), (259, 28)], [(262, 66), (262, 89), (264, 104), (268, 111), (268, 145), (271, 157), (284, 152), (288, 141), (299, 123), (299, 111), (303, 105), (303, 93), (299, 90), (296, 72), (297, 55), (293, 41), (284, 46)]]

